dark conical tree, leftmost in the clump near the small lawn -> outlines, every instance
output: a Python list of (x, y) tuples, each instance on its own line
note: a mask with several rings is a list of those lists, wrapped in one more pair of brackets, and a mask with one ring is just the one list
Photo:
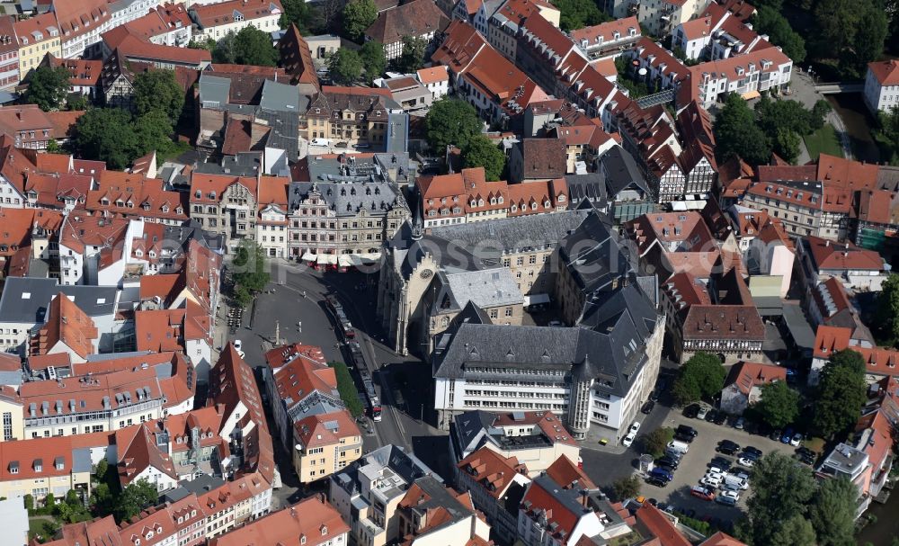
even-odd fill
[(752, 165), (761, 165), (771, 157), (765, 133), (755, 124), (754, 113), (738, 94), (727, 95), (714, 130), (719, 161), (737, 156)]

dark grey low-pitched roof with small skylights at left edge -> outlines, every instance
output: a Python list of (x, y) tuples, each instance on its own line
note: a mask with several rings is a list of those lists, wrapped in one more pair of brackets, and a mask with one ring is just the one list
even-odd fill
[(58, 292), (75, 301), (88, 317), (115, 312), (117, 289), (114, 286), (60, 285), (57, 279), (10, 277), (0, 297), (0, 322), (43, 324), (50, 300)]

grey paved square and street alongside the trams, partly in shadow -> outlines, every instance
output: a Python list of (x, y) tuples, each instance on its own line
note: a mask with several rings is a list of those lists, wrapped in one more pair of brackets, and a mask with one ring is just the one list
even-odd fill
[[(373, 424), (373, 434), (363, 431), (364, 450), (395, 443), (414, 451), (434, 470), (444, 470), (449, 464), (446, 436), (426, 424), (429, 418), (433, 420), (431, 390), (419, 387), (430, 385), (430, 366), (412, 357), (397, 356), (381, 344), (383, 335), (374, 307), (377, 277), (371, 280), (362, 273), (318, 273), (280, 262), (272, 266), (268, 291), (256, 297), (254, 306), (245, 311), (242, 327), (228, 336), (229, 340), (243, 342), (246, 362), (254, 368), (265, 365), (263, 354), (274, 344), (276, 325), (284, 342), (318, 345), (327, 360), (347, 362), (339, 334), (322, 305), (326, 293), (336, 293), (356, 329), (356, 340), (365, 354), (383, 408), (382, 420)], [(290, 498), (298, 484), (292, 479), (289, 454), (279, 451), (276, 458), (285, 483), (279, 497)]]

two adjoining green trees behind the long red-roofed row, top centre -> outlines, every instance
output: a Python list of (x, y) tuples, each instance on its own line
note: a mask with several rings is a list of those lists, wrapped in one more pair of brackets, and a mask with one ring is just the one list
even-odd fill
[(463, 165), (483, 166), (487, 180), (499, 180), (503, 175), (505, 154), (481, 132), (483, 121), (471, 104), (443, 99), (432, 105), (424, 121), (435, 153), (455, 146), (462, 151)]

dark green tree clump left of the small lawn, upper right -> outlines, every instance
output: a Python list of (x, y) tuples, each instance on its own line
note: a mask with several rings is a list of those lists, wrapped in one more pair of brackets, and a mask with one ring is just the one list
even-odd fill
[(811, 109), (797, 101), (762, 96), (752, 111), (737, 94), (729, 94), (715, 120), (716, 155), (720, 161), (739, 156), (752, 165), (768, 163), (771, 153), (793, 163), (803, 137), (819, 130), (831, 106), (824, 100)]

